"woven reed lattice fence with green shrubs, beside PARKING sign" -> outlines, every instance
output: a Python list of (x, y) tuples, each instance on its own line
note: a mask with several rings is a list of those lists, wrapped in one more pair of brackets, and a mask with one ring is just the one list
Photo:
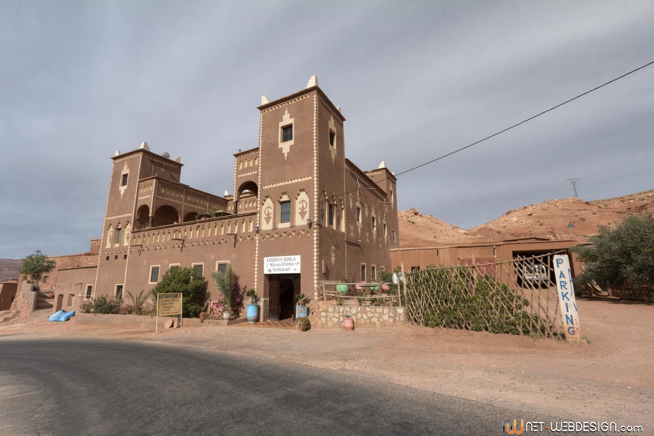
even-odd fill
[(405, 275), (407, 320), (428, 327), (564, 339), (552, 256)]

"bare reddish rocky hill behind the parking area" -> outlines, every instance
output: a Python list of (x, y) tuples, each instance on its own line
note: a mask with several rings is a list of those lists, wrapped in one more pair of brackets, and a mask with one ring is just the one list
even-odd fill
[[(409, 209), (399, 212), (402, 247), (469, 244), (523, 237), (546, 237), (588, 241), (598, 224), (607, 225), (627, 214), (654, 212), (654, 190), (621, 197), (583, 201), (565, 198), (525, 205), (474, 227), (460, 229), (434, 216)], [(572, 222), (572, 229), (568, 223)]]

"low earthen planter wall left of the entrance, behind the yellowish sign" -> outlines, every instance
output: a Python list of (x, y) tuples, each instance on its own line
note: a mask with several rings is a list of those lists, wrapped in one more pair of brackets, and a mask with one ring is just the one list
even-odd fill
[[(154, 316), (144, 315), (111, 315), (111, 314), (97, 314), (97, 313), (80, 313), (76, 312), (75, 316), (71, 318), (75, 320), (75, 325), (80, 326), (111, 326), (111, 327), (125, 327), (125, 328), (142, 328), (154, 329), (155, 324)], [(158, 318), (159, 329), (163, 329), (167, 317), (160, 316)], [(182, 320), (183, 327), (226, 327), (239, 322), (246, 322), (247, 318), (240, 318), (238, 320), (205, 320), (200, 322), (199, 318), (184, 318)]]

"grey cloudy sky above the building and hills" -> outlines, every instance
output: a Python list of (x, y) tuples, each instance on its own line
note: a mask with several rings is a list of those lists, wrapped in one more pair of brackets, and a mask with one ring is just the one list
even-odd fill
[[(222, 195), (260, 95), (320, 87), (347, 155), (400, 172), (654, 60), (652, 1), (0, 3), (0, 258), (99, 237), (111, 156), (147, 141)], [(461, 227), (654, 188), (654, 65), (398, 180)]]

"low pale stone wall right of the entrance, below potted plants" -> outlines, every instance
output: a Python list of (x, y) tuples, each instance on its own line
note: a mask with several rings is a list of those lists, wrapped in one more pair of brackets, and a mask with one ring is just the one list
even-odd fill
[(390, 327), (404, 323), (403, 307), (325, 306), (309, 319), (311, 327), (343, 327), (344, 314), (352, 315), (355, 327)]

